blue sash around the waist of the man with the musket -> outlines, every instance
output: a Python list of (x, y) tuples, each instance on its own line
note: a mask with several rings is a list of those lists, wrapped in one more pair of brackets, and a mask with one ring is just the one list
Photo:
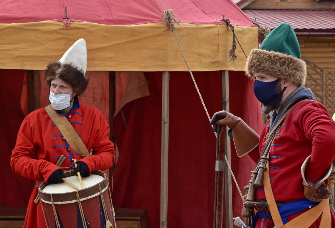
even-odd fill
[[(293, 215), (299, 211), (305, 210), (309, 207), (315, 207), (319, 203), (311, 202), (307, 199), (301, 199), (292, 201), (286, 204), (282, 204), (278, 207), (278, 211), (281, 217), (281, 220), (283, 221), (283, 224), (285, 225), (287, 223), (287, 216)], [(252, 219), (252, 227), (256, 227), (256, 222), (258, 218), (272, 218), (270, 212), (257, 212), (254, 218)]]

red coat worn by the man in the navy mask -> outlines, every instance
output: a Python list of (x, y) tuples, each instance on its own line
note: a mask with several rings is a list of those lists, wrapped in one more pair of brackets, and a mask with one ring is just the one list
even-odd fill
[[(258, 151), (250, 156), (259, 158), (266, 144), (270, 129), (268, 121), (262, 129)], [(328, 171), (335, 157), (335, 122), (327, 109), (319, 102), (304, 100), (297, 103), (285, 118), (270, 149), (269, 174), (275, 200), (287, 203), (305, 199), (300, 168), (306, 158), (311, 160), (305, 176), (313, 183)], [(256, 188), (256, 200), (265, 200), (263, 186)], [(288, 221), (299, 213), (288, 216)], [(319, 218), (320, 219), (320, 218)], [(260, 227), (262, 219), (258, 219)], [(265, 219), (266, 224), (267, 219)], [(335, 218), (332, 214), (334, 224)], [(315, 225), (315, 226), (314, 226)], [(318, 227), (314, 223), (311, 227)], [(273, 227), (272, 221), (269, 227)]]

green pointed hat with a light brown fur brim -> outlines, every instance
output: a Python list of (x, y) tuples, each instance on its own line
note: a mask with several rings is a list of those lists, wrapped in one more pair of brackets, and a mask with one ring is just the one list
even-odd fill
[(281, 23), (264, 39), (260, 49), (253, 49), (246, 65), (246, 75), (264, 73), (278, 79), (304, 85), (306, 63), (300, 59), (299, 43), (293, 28)]

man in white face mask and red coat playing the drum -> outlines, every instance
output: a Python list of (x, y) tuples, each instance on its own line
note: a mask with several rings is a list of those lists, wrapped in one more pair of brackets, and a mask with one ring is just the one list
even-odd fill
[[(80, 39), (59, 61), (47, 66), (45, 80), (50, 86), (51, 104), (29, 113), (21, 124), (12, 151), (11, 167), (15, 173), (36, 180), (24, 227), (46, 227), (41, 205), (34, 202), (43, 180), (48, 184), (63, 182), (64, 171), (74, 170), (85, 177), (93, 169), (106, 170), (114, 164), (114, 145), (109, 139), (110, 128), (104, 116), (95, 107), (79, 103), (78, 96), (88, 84), (86, 64), (86, 43)], [(59, 130), (59, 125), (52, 119), (55, 116), (72, 126), (84, 151), (77, 149), (79, 147), (75, 147), (73, 141), (70, 143), (73, 135), (65, 136)], [(64, 161), (59, 167), (56, 163), (61, 157)]]

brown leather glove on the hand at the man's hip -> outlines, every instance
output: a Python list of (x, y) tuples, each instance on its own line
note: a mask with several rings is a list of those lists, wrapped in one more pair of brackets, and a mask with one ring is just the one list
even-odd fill
[(308, 185), (304, 180), (303, 185), (304, 195), (309, 201), (319, 203), (323, 199), (327, 199), (332, 195), (332, 192), (326, 187), (325, 181), (321, 181), (316, 185)]

